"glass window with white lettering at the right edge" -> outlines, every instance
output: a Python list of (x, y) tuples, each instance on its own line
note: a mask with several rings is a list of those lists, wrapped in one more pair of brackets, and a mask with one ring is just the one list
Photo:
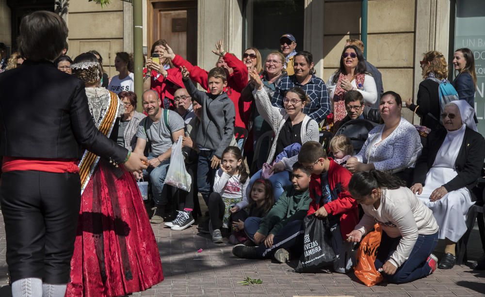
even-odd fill
[[(475, 110), (478, 130), (485, 133), (485, 4), (483, 0), (457, 0), (454, 49), (468, 47), (475, 58), (477, 88)], [(450, 63), (453, 63), (450, 61)], [(453, 75), (454, 77), (454, 75)]]

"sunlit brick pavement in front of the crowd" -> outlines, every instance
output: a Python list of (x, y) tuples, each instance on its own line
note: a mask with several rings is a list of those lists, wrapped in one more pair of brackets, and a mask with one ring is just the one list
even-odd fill
[[(1, 217), (1, 215), (0, 215)], [(0, 297), (10, 296), (5, 263), (5, 232), (0, 218)], [(235, 258), (228, 243), (214, 244), (196, 227), (171, 231), (163, 224), (152, 225), (159, 244), (165, 280), (132, 296), (143, 297), (239, 297), (239, 296), (485, 296), (485, 271), (468, 266), (437, 269), (431, 276), (407, 284), (379, 284), (371, 288), (356, 281), (352, 273), (297, 274), (296, 262)], [(478, 238), (471, 238), (478, 241)], [(197, 253), (198, 249), (203, 249)], [(476, 255), (475, 255), (476, 256)], [(261, 285), (242, 286), (245, 277), (260, 278)]]

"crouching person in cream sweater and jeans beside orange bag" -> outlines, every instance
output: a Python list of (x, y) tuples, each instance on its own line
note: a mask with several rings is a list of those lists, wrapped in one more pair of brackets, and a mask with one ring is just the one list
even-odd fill
[(426, 207), (404, 182), (390, 174), (372, 170), (357, 172), (349, 182), (352, 197), (362, 205), (364, 217), (349, 241), (360, 242), (375, 223), (382, 228), (375, 268), (382, 268), (388, 282), (405, 283), (430, 275), (436, 269), (438, 225)]

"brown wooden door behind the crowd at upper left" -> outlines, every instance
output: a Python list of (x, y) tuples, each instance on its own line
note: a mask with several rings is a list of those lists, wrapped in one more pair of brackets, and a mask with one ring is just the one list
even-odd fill
[(148, 28), (148, 51), (153, 42), (165, 39), (176, 54), (196, 63), (197, 2), (150, 1), (148, 9), (148, 24), (153, 24)]

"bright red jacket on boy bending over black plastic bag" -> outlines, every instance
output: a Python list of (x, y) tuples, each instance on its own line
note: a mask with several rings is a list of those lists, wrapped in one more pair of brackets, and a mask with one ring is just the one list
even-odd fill
[[(340, 215), (340, 233), (342, 238), (347, 239), (349, 234), (359, 222), (358, 220), (358, 203), (352, 198), (348, 191), (349, 181), (352, 177), (345, 167), (335, 163), (332, 158), (330, 160), (330, 166), (328, 168), (328, 186), (330, 187), (330, 193), (332, 195), (332, 201), (322, 205), (322, 183), (321, 175), (312, 174), (310, 179), (309, 191), (310, 191), (310, 208), (308, 209), (307, 216), (316, 212), (321, 206), (325, 207), (327, 213), (332, 215)], [(316, 205), (316, 198), (319, 198), (320, 205)]]

